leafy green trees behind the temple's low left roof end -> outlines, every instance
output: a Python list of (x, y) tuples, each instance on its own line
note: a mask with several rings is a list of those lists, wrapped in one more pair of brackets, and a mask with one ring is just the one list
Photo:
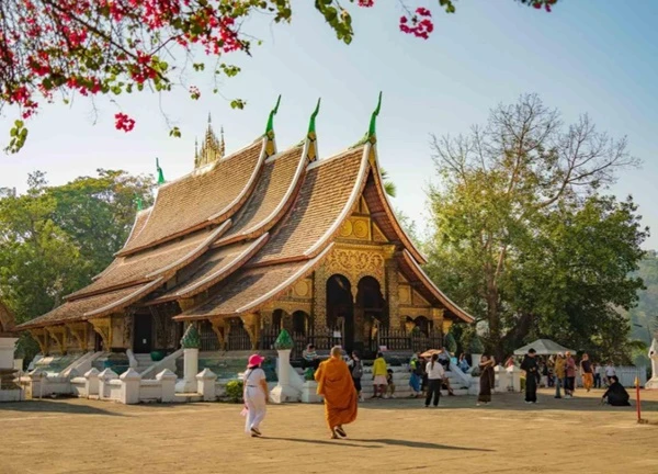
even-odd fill
[[(25, 323), (58, 306), (63, 297), (104, 269), (127, 238), (133, 199), (152, 202), (152, 178), (99, 170), (48, 187), (45, 174), (29, 177), (23, 195), (0, 196), (0, 298)], [(21, 339), (33, 356), (29, 339)]]

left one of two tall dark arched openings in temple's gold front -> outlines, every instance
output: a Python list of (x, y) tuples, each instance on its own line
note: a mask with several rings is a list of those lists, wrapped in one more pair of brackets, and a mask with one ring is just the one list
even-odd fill
[(354, 334), (352, 285), (341, 274), (331, 275), (327, 280), (327, 327), (341, 332), (343, 349), (360, 349), (360, 339)]

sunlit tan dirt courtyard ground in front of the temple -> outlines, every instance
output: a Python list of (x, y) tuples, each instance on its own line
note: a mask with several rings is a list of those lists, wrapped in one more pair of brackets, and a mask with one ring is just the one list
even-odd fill
[(238, 405), (1, 404), (0, 473), (658, 473), (658, 393), (643, 391), (648, 425), (601, 394), (365, 402), (348, 440), (328, 439), (321, 405), (270, 406), (252, 439)]

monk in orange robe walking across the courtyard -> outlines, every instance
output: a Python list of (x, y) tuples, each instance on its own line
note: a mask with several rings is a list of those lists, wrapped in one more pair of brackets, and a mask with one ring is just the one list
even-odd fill
[(350, 369), (341, 359), (340, 347), (331, 349), (331, 358), (320, 363), (315, 380), (318, 395), (325, 397), (325, 417), (331, 438), (347, 438), (342, 426), (356, 419), (359, 397)]

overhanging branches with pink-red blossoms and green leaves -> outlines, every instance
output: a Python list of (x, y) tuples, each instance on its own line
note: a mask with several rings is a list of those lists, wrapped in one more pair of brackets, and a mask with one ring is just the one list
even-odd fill
[[(518, 0), (551, 11), (557, 0)], [(433, 31), (432, 13), (398, 0), (405, 14), (399, 30), (420, 38)], [(409, 0), (411, 3), (411, 0)], [(315, 8), (350, 44), (354, 35), (351, 8), (374, 7), (374, 0), (316, 0)], [(455, 12), (453, 0), (439, 0), (440, 8)], [(212, 68), (218, 76), (234, 77), (240, 68), (223, 61), (226, 54), (250, 54), (252, 36), (242, 23), (253, 15), (269, 14), (275, 23), (290, 23), (291, 0), (14, 0), (0, 2), (0, 108), (15, 105), (20, 119), (11, 128), (7, 149), (15, 153), (27, 138), (24, 121), (42, 101), (68, 102), (73, 94), (118, 95), (149, 88), (170, 91), (185, 82), (184, 74)], [(260, 42), (258, 42), (260, 43)], [(203, 56), (211, 59), (208, 65)], [(171, 64), (170, 64), (171, 63)], [(178, 81), (177, 81), (178, 79)], [(197, 100), (201, 91), (186, 87)], [(217, 92), (217, 88), (215, 88)], [(242, 109), (235, 99), (231, 106)], [(135, 121), (123, 112), (115, 126), (131, 132)], [(172, 136), (180, 136), (171, 127)]]

